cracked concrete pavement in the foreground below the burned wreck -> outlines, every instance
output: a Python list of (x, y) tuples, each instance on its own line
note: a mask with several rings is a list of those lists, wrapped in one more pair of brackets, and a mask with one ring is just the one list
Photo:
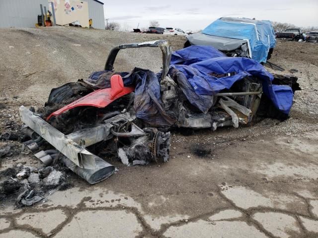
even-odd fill
[[(316, 238), (318, 136), (289, 139), (290, 148), (306, 141), (311, 153), (277, 146), (282, 140), (235, 141), (216, 149), (222, 159), (214, 160), (191, 155), (186, 161), (172, 151), (175, 158), (160, 167), (122, 167), (92, 186), (76, 179), (75, 187), (34, 207), (2, 206), (0, 238)], [(268, 146), (249, 156), (259, 144)], [(270, 144), (273, 156), (265, 153)], [(239, 147), (246, 155), (238, 161)]]

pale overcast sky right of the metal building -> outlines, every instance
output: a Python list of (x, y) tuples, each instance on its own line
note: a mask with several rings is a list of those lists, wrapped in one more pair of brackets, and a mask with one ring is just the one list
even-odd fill
[(318, 0), (100, 0), (105, 18), (122, 27), (149, 27), (151, 20), (161, 27), (199, 30), (222, 16), (288, 22), (297, 26), (318, 26)]

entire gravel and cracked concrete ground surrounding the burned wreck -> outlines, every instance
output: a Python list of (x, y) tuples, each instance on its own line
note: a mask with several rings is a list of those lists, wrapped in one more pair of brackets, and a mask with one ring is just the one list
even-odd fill
[[(103, 69), (112, 47), (155, 39), (170, 40), (173, 50), (185, 42), (181, 36), (70, 27), (0, 29), (0, 132), (22, 125), (19, 106), (40, 107), (53, 87)], [(302, 88), (290, 119), (172, 131), (168, 163), (126, 167), (111, 161), (119, 171), (96, 185), (70, 174), (73, 188), (34, 207), (13, 210), (13, 201), (5, 201), (0, 238), (316, 238), (317, 53), (318, 44), (277, 41), (270, 61), (286, 74), (298, 70)], [(121, 51), (114, 66), (158, 72), (160, 65), (159, 49), (133, 49)], [(0, 158), (1, 171), (18, 163), (40, 166), (19, 142), (0, 141), (0, 148), (7, 144), (11, 151)]]

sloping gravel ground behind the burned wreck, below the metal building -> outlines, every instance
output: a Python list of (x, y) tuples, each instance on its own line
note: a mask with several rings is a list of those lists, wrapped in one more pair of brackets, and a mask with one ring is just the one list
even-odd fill
[[(3, 42), (0, 50), (4, 53), (0, 58), (1, 98), (18, 96), (17, 101), (28, 104), (43, 104), (52, 87), (103, 69), (109, 51), (117, 45), (168, 38), (172, 39), (173, 50), (177, 50), (184, 43), (182, 37), (72, 27), (0, 31)], [(118, 71), (130, 71), (137, 66), (158, 72), (160, 65), (160, 50), (144, 48), (120, 51), (114, 67)], [(28, 76), (28, 73), (34, 74)]]

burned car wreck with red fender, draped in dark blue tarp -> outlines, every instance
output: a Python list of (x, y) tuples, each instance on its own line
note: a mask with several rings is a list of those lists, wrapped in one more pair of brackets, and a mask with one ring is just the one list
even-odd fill
[[(161, 72), (114, 71), (120, 50), (140, 47), (161, 49)], [(172, 53), (158, 40), (115, 47), (104, 70), (52, 89), (43, 108), (21, 106), (20, 116), (31, 137), (25, 144), (39, 160), (63, 161), (93, 184), (114, 173), (105, 161), (111, 155), (125, 165), (167, 162), (171, 128), (239, 127), (257, 115), (286, 119), (296, 86), (296, 77), (273, 76), (255, 60), (210, 46)], [(43, 149), (52, 146), (58, 154)]]

